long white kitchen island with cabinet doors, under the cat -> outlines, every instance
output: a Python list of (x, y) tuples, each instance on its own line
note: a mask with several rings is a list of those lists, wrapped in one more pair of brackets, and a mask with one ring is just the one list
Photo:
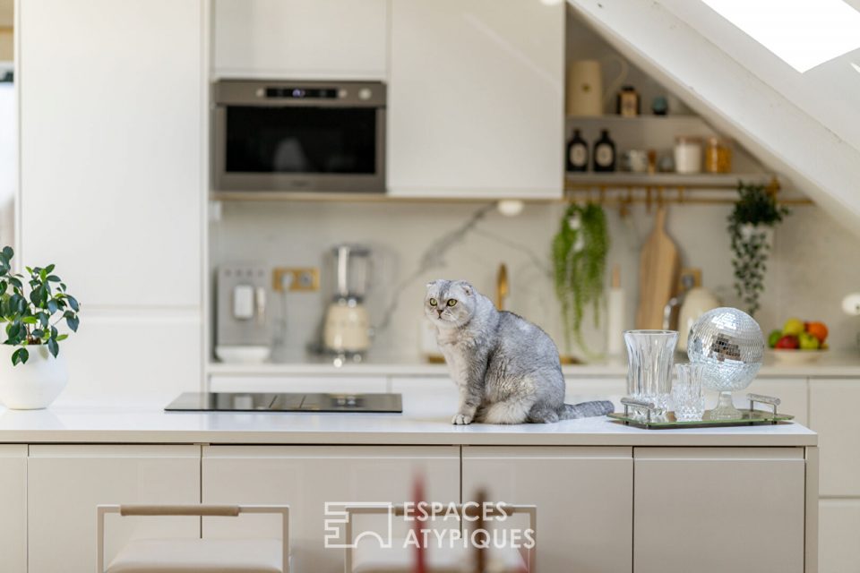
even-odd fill
[[(429, 500), (536, 504), (542, 573), (817, 570), (817, 436), (800, 424), (453, 426), (446, 404), (409, 394), (402, 415), (162, 406), (0, 409), (4, 572), (91, 573), (99, 503), (201, 501), (288, 503), (294, 570), (342, 571), (324, 503), (410, 501), (416, 475)], [(108, 552), (131, 536), (278, 533), (261, 516), (122, 519)]]

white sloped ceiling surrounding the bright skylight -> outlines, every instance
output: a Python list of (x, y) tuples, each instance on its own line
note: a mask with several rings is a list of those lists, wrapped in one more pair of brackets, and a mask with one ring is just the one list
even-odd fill
[[(860, 235), (860, 51), (798, 73), (699, 0), (568, 0), (615, 49)], [(855, 8), (860, 0), (849, 0)]]

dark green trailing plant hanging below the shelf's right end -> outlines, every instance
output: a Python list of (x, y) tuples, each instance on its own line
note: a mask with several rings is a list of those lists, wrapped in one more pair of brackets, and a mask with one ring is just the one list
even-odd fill
[(728, 233), (732, 240), (732, 267), (735, 269), (735, 292), (746, 305), (746, 312), (759, 310), (764, 291), (764, 274), (770, 253), (770, 229), (776, 227), (789, 210), (780, 207), (776, 194), (764, 185), (739, 182), (740, 199), (728, 216)]

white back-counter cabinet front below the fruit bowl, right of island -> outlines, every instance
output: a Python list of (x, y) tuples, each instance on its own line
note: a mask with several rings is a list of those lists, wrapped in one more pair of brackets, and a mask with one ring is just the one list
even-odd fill
[(809, 381), (809, 427), (818, 432), (821, 495), (860, 496), (856, 380)]

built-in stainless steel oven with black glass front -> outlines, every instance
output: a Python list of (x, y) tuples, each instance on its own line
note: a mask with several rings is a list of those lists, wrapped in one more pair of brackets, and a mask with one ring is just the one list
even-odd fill
[(368, 81), (219, 81), (217, 191), (385, 191), (385, 86)]

